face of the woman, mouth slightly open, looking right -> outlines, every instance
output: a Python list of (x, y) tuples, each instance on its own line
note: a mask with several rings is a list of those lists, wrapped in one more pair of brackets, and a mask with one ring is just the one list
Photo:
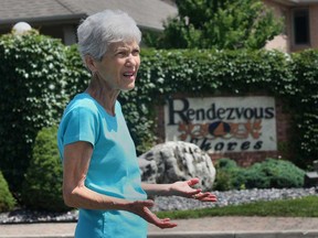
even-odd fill
[(95, 62), (99, 77), (110, 89), (130, 90), (140, 65), (137, 42), (116, 42), (108, 46), (100, 62)]

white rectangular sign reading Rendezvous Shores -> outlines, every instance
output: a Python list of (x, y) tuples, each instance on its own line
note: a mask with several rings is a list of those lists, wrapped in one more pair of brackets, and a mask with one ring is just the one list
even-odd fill
[(273, 97), (172, 98), (165, 106), (166, 141), (209, 153), (276, 151)]

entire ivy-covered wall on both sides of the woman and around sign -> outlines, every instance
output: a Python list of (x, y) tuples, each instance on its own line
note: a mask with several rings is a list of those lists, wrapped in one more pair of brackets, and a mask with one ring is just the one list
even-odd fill
[[(0, 170), (18, 190), (36, 132), (59, 123), (66, 102), (87, 86), (76, 45), (38, 33), (0, 36)], [(156, 106), (173, 94), (241, 96), (266, 93), (292, 116), (288, 142), (298, 165), (318, 154), (318, 51), (141, 50), (136, 88), (119, 100), (138, 152), (157, 141)], [(15, 187), (17, 186), (17, 187)]]

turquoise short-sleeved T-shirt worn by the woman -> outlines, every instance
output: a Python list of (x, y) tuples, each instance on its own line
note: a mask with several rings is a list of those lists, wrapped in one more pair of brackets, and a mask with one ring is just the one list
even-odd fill
[[(115, 115), (108, 115), (88, 94), (77, 95), (66, 107), (59, 127), (61, 159), (66, 144), (92, 143), (94, 150), (85, 186), (128, 201), (146, 199), (135, 144), (118, 101)], [(146, 238), (147, 226), (141, 217), (124, 210), (80, 209), (75, 237)]]

